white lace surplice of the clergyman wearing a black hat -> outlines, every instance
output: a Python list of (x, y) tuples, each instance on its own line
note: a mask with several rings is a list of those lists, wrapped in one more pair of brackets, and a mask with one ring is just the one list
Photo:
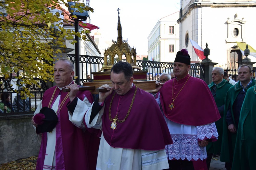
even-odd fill
[(217, 137), (215, 123), (201, 126), (178, 124), (167, 119), (173, 144), (166, 146), (168, 159), (203, 160), (207, 158), (206, 147), (198, 146), (198, 139)]

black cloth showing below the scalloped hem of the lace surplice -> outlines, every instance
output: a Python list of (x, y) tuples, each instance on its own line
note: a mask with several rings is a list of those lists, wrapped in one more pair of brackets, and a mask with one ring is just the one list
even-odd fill
[(194, 170), (193, 161), (188, 160), (168, 160), (169, 169), (167, 170)]

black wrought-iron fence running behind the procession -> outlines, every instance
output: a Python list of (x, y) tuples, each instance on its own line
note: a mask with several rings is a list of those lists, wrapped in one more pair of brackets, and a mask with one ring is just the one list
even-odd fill
[[(70, 58), (70, 61), (75, 64), (75, 55), (74, 54), (68, 54), (68, 58)], [(159, 75), (163, 72), (170, 73), (173, 70), (173, 63), (165, 63), (165, 62), (155, 62), (155, 61), (137, 61), (137, 65), (141, 68), (141, 70), (148, 71), (147, 72), (147, 80), (158, 80)], [(80, 80), (82, 82), (86, 81), (93, 81), (93, 72), (98, 72), (100, 69), (104, 66), (104, 58), (103, 57), (97, 57), (97, 56), (88, 56), (88, 55), (80, 55)], [(204, 80), (203, 67), (201, 65), (191, 64), (191, 69), (189, 71), (189, 74), (193, 77), (198, 77)], [(24, 75), (24, 74), (23, 74)], [(87, 79), (87, 75), (90, 75), (91, 79)], [(25, 78), (25, 77), (23, 77)], [(17, 114), (32, 114), (35, 109), (37, 108), (37, 105), (42, 100), (43, 94), (45, 90), (47, 90), (49, 87), (52, 86), (52, 84), (48, 84), (41, 80), (40, 78), (34, 78), (37, 80), (37, 84), (40, 85), (37, 87), (35, 84), (32, 85), (26, 85), (27, 88), (29, 88), (30, 92), (33, 94), (34, 97), (29, 98), (29, 111), (27, 112), (13, 112), (6, 113), (6, 114), (0, 114), (0, 116), (6, 116), (6, 115), (17, 115)], [(15, 75), (11, 74), (8, 79), (5, 79), (3, 77), (0, 77), (0, 93), (1, 94), (10, 94), (11, 96), (11, 106), (13, 104), (13, 100), (15, 96), (17, 96), (17, 93), (14, 92), (15, 89), (22, 90), (19, 86), (15, 86), (16, 84), (19, 84), (18, 79), (15, 78)], [(24, 101), (22, 101), (24, 102)], [(24, 103), (23, 103), (24, 105)]]

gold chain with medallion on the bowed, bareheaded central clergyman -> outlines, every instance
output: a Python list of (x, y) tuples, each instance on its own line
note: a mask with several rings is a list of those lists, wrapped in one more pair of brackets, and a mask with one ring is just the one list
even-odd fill
[(112, 102), (113, 102), (114, 96), (116, 94), (116, 92), (114, 92), (114, 95), (112, 96), (112, 99), (111, 99), (110, 105), (109, 105), (109, 120), (113, 121), (113, 122), (111, 122), (110, 129), (114, 129), (115, 130), (116, 126), (117, 126), (116, 121), (118, 121), (119, 123), (123, 123), (127, 119), (127, 117), (129, 116), (130, 111), (131, 111), (131, 107), (133, 105), (133, 102), (134, 102), (134, 99), (135, 99), (135, 96), (136, 96), (136, 93), (137, 93), (137, 86), (136, 85), (134, 85), (134, 86), (135, 86), (135, 91), (134, 91), (134, 94), (133, 94), (133, 97), (132, 97), (132, 100), (131, 100), (131, 105), (130, 105), (129, 110), (128, 110), (128, 112), (127, 112), (127, 114), (126, 114), (126, 116), (125, 116), (125, 118), (123, 120), (118, 120), (117, 114), (116, 114), (115, 118), (112, 119), (112, 117), (111, 117), (111, 106), (112, 106)]

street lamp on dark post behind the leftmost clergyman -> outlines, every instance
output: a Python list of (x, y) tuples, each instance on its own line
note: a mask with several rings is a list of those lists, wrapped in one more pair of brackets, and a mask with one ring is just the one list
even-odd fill
[[(69, 12), (72, 20), (75, 22), (75, 32), (79, 32), (79, 21), (85, 21), (89, 14), (87, 11), (82, 10), (83, 12), (79, 11), (79, 8), (84, 8), (83, 3), (78, 2), (68, 2), (69, 5)], [(75, 80), (76, 84), (80, 84), (80, 68), (79, 68), (79, 37), (75, 35), (75, 75), (77, 79)]]

